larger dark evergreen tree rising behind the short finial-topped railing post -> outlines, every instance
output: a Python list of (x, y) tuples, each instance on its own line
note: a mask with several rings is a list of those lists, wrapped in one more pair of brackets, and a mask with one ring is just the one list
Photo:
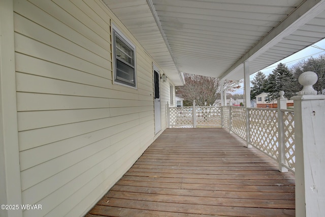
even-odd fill
[(270, 101), (279, 97), (280, 90), (285, 92), (287, 98), (293, 97), (298, 91), (294, 74), (282, 63), (268, 76), (267, 92)]

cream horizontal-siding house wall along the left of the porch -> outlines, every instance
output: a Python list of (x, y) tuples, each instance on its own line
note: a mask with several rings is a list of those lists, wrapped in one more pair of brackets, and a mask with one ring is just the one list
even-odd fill
[[(155, 135), (154, 60), (100, 0), (12, 2), (21, 203), (42, 205), (22, 215), (81, 216), (166, 129), (171, 81)], [(137, 89), (113, 84), (111, 22), (136, 45)]]

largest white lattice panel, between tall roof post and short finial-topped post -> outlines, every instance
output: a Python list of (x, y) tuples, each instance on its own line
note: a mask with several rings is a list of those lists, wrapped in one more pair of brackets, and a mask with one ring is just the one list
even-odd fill
[(250, 142), (278, 159), (278, 117), (276, 109), (249, 109)]

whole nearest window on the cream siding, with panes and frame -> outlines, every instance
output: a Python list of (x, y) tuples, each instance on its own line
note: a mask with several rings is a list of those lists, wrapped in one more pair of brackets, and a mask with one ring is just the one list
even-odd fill
[(112, 24), (114, 83), (136, 88), (136, 47)]

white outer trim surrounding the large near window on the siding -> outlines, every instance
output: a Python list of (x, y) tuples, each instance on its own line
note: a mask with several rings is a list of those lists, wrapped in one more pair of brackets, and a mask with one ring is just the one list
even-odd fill
[[(128, 85), (125, 84), (123, 82), (119, 82), (116, 79), (116, 58), (115, 58), (115, 41), (114, 41), (114, 37), (113, 37), (113, 31), (115, 33), (117, 33), (120, 37), (122, 37), (122, 40), (124, 40), (129, 46), (131, 46), (134, 49), (134, 77), (135, 77), (135, 86), (133, 85)], [(121, 30), (119, 30), (119, 28), (114, 25), (114, 23), (111, 23), (111, 47), (112, 47), (112, 73), (113, 73), (113, 84), (117, 84), (117, 85), (121, 85), (121, 86), (125, 86), (125, 87), (130, 87), (130, 88), (134, 88), (134, 89), (138, 89), (138, 82), (137, 82), (137, 61), (136, 61), (136, 46), (121, 32)]]

